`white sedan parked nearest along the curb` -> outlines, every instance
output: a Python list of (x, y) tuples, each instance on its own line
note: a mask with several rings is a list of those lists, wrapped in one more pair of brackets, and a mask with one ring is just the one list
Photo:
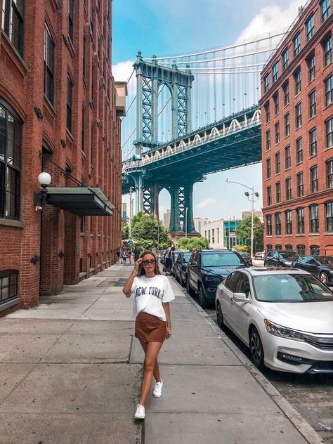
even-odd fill
[(216, 289), (218, 326), (246, 344), (258, 368), (333, 373), (333, 292), (290, 268), (243, 268)]

